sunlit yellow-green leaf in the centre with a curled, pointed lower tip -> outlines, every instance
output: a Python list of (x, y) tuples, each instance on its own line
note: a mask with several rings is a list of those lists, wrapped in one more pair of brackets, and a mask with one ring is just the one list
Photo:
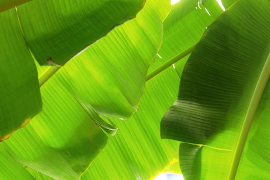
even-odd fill
[(136, 19), (116, 27), (59, 70), (71, 92), (104, 116), (126, 119), (138, 108), (163, 38), (169, 1), (148, 1)]

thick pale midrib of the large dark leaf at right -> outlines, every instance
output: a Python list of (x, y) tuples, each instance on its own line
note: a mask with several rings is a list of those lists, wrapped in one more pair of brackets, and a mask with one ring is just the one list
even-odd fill
[(241, 155), (245, 146), (245, 142), (251, 127), (251, 124), (254, 119), (254, 115), (256, 113), (257, 107), (259, 105), (261, 96), (264, 92), (264, 88), (267, 84), (267, 81), (270, 76), (270, 53), (268, 54), (268, 57), (264, 63), (264, 66), (262, 68), (260, 77), (258, 79), (258, 82), (255, 86), (255, 90), (253, 92), (253, 95), (250, 99), (250, 102), (248, 104), (248, 109), (246, 112), (246, 116), (244, 118), (244, 122), (241, 128), (241, 132), (237, 141), (235, 153), (233, 155), (232, 164), (230, 167), (228, 180), (233, 180), (236, 177), (238, 166), (240, 163)]

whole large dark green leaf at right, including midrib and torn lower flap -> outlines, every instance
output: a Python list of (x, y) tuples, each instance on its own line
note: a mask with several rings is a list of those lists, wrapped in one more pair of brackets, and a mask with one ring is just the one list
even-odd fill
[(239, 0), (207, 28), (185, 66), (161, 137), (197, 145), (179, 149), (186, 179), (270, 177), (269, 8), (267, 0)]

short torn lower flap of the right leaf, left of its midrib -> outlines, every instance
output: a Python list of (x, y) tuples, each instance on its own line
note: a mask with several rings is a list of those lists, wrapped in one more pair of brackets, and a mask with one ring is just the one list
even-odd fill
[(206, 146), (183, 142), (179, 147), (179, 164), (185, 179), (227, 179), (231, 157), (231, 151)]

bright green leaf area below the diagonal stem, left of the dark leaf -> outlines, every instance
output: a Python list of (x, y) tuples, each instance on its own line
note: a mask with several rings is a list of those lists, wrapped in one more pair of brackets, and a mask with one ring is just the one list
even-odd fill
[[(160, 86), (160, 84), (163, 84)], [(177, 97), (179, 78), (173, 67), (147, 82), (138, 111), (127, 121), (115, 120), (119, 130), (96, 157), (82, 179), (153, 179), (161, 172), (181, 173), (178, 142), (160, 139), (159, 123)]]

